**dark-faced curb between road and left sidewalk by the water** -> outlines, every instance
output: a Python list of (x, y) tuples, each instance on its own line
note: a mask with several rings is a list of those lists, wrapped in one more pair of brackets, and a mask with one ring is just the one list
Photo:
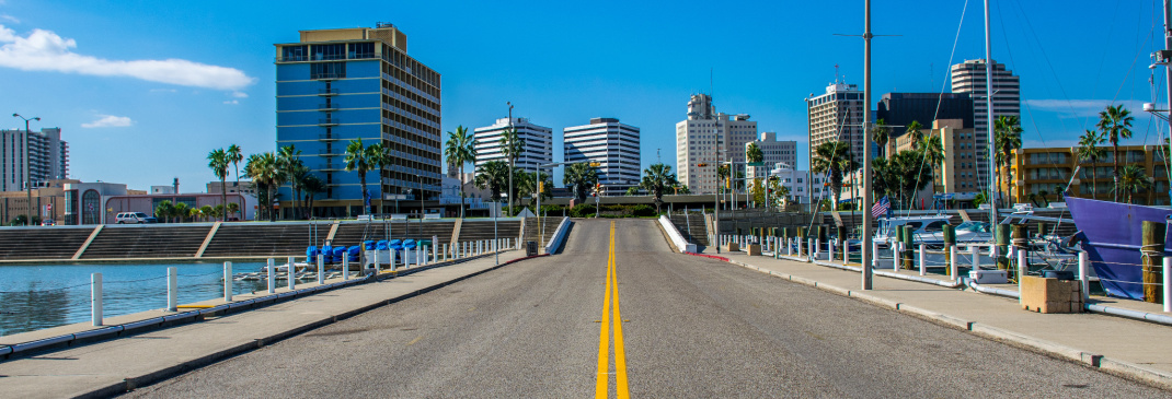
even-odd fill
[(401, 302), (403, 300), (408, 300), (408, 298), (411, 298), (411, 297), (415, 297), (415, 296), (418, 296), (418, 295), (422, 295), (422, 294), (427, 294), (427, 293), (430, 293), (430, 291), (434, 291), (434, 290), (448, 287), (450, 284), (454, 284), (454, 283), (457, 283), (457, 282), (461, 282), (461, 281), (464, 281), (464, 280), (468, 280), (468, 278), (482, 275), (484, 273), (499, 269), (499, 268), (509, 266), (509, 264), (513, 264), (513, 263), (517, 263), (517, 262), (520, 262), (520, 261), (525, 261), (525, 260), (530, 260), (530, 259), (534, 259), (534, 257), (545, 257), (545, 256), (550, 256), (550, 254), (541, 254), (541, 255), (533, 255), (533, 256), (525, 256), (525, 257), (515, 259), (512, 261), (507, 261), (507, 262), (504, 262), (504, 263), (490, 267), (490, 268), (481, 270), (481, 271), (476, 271), (476, 273), (472, 273), (472, 274), (469, 274), (469, 275), (465, 275), (465, 276), (456, 277), (454, 280), (441, 282), (441, 283), (437, 283), (435, 286), (424, 287), (424, 288), (421, 288), (421, 289), (417, 289), (415, 291), (407, 293), (407, 294), (403, 294), (403, 295), (400, 295), (400, 296), (395, 296), (395, 297), (391, 297), (391, 298), (382, 300), (382, 301), (379, 301), (379, 302), (376, 302), (374, 304), (366, 305), (366, 307), (362, 307), (362, 308), (359, 308), (359, 309), (354, 309), (354, 310), (349, 310), (349, 311), (345, 311), (345, 312), (335, 315), (335, 316), (327, 316), (327, 317), (325, 317), (322, 319), (319, 319), (319, 321), (315, 321), (315, 322), (309, 322), (309, 323), (306, 323), (304, 325), (299, 325), (299, 326), (295, 326), (293, 329), (289, 329), (289, 330), (279, 331), (279, 332), (273, 333), (273, 335), (267, 336), (267, 337), (257, 338), (252, 343), (245, 343), (245, 344), (236, 345), (236, 346), (232, 346), (232, 348), (227, 348), (227, 349), (217, 351), (214, 353), (200, 356), (198, 358), (179, 363), (177, 365), (171, 365), (171, 366), (166, 366), (166, 367), (164, 367), (162, 370), (156, 370), (156, 371), (152, 371), (152, 372), (148, 372), (148, 373), (145, 373), (143, 376), (128, 377), (128, 378), (125, 378), (123, 380), (123, 383), (117, 383), (117, 384), (113, 384), (113, 385), (98, 387), (98, 388), (93, 390), (93, 391), (82, 392), (82, 393), (79, 393), (76, 397), (77, 398), (105, 398), (105, 397), (111, 397), (111, 395), (124, 393), (124, 392), (130, 392), (130, 391), (134, 391), (134, 390), (136, 390), (138, 387), (148, 386), (148, 385), (155, 384), (155, 383), (157, 383), (159, 380), (163, 380), (163, 379), (177, 376), (177, 374), (182, 374), (182, 373), (196, 370), (196, 369), (200, 369), (200, 367), (214, 364), (214, 363), (217, 363), (217, 362), (219, 362), (222, 359), (225, 359), (225, 358), (229, 358), (229, 357), (233, 357), (233, 356), (238, 356), (238, 355), (243, 355), (245, 352), (250, 352), (252, 350), (264, 348), (265, 345), (271, 345), (271, 344), (274, 344), (277, 342), (284, 340), (286, 338), (291, 338), (291, 337), (298, 336), (298, 335), (302, 333), (302, 332), (306, 332), (306, 331), (309, 331), (309, 330), (313, 330), (313, 329), (318, 329), (318, 328), (321, 328), (321, 326), (326, 326), (326, 325), (336, 323), (339, 321), (347, 319), (347, 318), (361, 315), (363, 312), (367, 312), (367, 311), (370, 311), (370, 310), (374, 310), (374, 309), (377, 309), (377, 308), (382, 308), (384, 305), (389, 305), (389, 304), (393, 304), (393, 303), (396, 303), (396, 302)]

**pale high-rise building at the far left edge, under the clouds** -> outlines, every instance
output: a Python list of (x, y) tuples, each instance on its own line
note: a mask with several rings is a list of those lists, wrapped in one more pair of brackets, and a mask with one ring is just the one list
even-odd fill
[[(27, 153), (27, 157), (26, 157)], [(48, 180), (64, 179), (69, 173), (69, 145), (61, 139), (61, 128), (45, 128), (28, 136), (25, 149), (25, 130), (0, 130), (0, 191), (25, 190), (25, 163), (33, 187)]]

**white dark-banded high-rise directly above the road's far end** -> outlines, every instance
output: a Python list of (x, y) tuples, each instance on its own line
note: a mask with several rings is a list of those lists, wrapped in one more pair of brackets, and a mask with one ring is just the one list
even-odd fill
[(639, 128), (618, 118), (592, 118), (590, 124), (563, 129), (565, 161), (598, 163), (605, 195), (622, 195), (641, 178)]

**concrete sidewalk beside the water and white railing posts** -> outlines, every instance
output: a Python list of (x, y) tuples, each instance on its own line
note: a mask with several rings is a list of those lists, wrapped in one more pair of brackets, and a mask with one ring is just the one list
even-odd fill
[[(503, 252), (500, 266), (523, 259), (524, 252)], [(255, 310), (209, 317), (203, 322), (7, 360), (0, 363), (0, 377), (4, 377), (0, 378), (0, 392), (14, 398), (105, 397), (122, 393), (497, 267), (493, 256), (489, 255), (278, 302)], [(326, 284), (340, 281), (341, 278), (331, 280)], [(313, 286), (316, 283), (298, 284), (298, 288)], [(274, 295), (280, 293), (279, 290)], [(267, 295), (237, 295), (233, 302)], [(202, 303), (218, 305), (224, 300)], [(108, 318), (107, 324), (157, 318), (166, 314), (169, 312), (161, 310), (146, 311)], [(91, 329), (97, 328), (79, 323), (18, 335), (12, 339), (28, 340), (35, 336)]]

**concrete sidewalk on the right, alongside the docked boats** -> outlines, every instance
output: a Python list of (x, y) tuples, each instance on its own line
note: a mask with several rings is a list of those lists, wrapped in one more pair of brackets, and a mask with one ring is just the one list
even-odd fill
[(1168, 326), (1098, 314), (1036, 314), (1022, 310), (1013, 298), (883, 276), (875, 276), (873, 289), (864, 291), (858, 289), (860, 276), (854, 271), (743, 252), (722, 252), (720, 256), (782, 278), (1172, 387)]

